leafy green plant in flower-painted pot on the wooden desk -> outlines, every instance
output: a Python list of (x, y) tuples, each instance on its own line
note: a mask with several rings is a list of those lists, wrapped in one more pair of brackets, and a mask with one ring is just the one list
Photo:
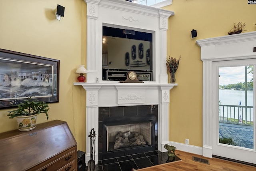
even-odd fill
[(36, 127), (36, 117), (40, 113), (45, 113), (48, 120), (48, 104), (44, 103), (44, 101), (33, 100), (32, 97), (28, 97), (24, 102), (20, 102), (17, 105), (17, 109), (8, 111), (9, 114), (7, 116), (10, 119), (17, 118), (20, 131), (30, 131)]

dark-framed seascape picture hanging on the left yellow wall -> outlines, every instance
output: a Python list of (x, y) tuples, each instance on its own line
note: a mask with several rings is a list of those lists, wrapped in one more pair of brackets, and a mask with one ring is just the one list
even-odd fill
[(59, 102), (60, 60), (0, 49), (0, 108), (32, 97)]

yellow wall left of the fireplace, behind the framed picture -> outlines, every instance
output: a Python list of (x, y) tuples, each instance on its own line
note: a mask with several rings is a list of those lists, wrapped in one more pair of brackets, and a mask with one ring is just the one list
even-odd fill
[[(56, 20), (57, 4), (65, 7)], [(85, 151), (85, 91), (73, 86), (76, 68), (86, 64), (86, 3), (83, 0), (0, 0), (0, 48), (60, 60), (60, 102), (51, 103), (49, 121), (67, 121)], [(0, 132), (18, 129), (0, 109)], [(46, 122), (44, 114), (37, 123)]]

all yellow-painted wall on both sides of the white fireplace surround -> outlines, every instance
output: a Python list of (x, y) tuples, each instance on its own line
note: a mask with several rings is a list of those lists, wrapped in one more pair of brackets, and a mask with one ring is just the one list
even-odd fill
[[(57, 4), (64, 18), (55, 19)], [(168, 55), (182, 56), (178, 86), (170, 91), (169, 140), (202, 147), (202, 62), (196, 40), (225, 36), (233, 22), (256, 31), (256, 5), (246, 0), (173, 0), (169, 19)], [(190, 38), (192, 29), (198, 37)], [(86, 3), (84, 0), (0, 0), (0, 48), (60, 60), (60, 102), (51, 103), (49, 120), (67, 121), (78, 149), (85, 151), (85, 95), (74, 86), (80, 64), (86, 65)], [(16, 119), (0, 109), (0, 132), (18, 129)], [(46, 122), (45, 115), (38, 123)]]

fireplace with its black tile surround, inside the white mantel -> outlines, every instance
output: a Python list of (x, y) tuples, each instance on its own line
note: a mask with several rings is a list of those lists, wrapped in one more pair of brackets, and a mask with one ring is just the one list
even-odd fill
[(99, 160), (158, 150), (158, 105), (99, 107)]

